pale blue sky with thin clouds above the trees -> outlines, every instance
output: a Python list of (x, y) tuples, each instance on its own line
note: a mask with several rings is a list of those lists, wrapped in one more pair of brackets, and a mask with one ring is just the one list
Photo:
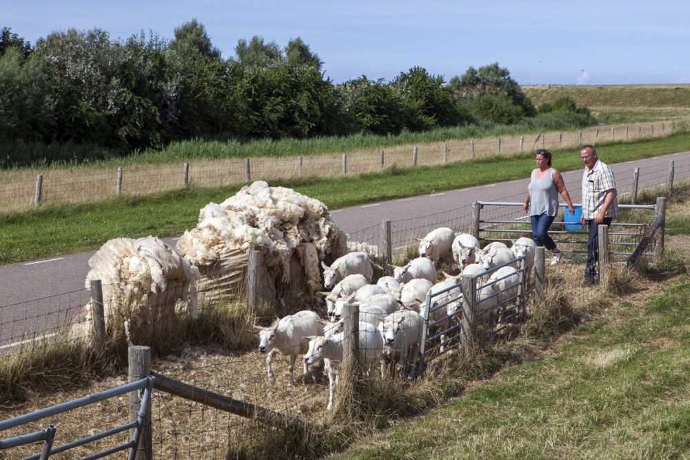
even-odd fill
[[(196, 18), (224, 57), (238, 39), (301, 37), (336, 82), (422, 66), (446, 80), (498, 61), (521, 84), (690, 83), (690, 2), (3, 0), (35, 43), (67, 28), (170, 39)], [(636, 6), (644, 4), (644, 6)]]

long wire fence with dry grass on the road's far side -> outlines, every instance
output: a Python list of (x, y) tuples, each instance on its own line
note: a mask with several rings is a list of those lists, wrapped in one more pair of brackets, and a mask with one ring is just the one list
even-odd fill
[(573, 132), (500, 138), (462, 139), (423, 146), (395, 146), (347, 154), (306, 157), (253, 157), (199, 160), (178, 164), (141, 164), (108, 168), (53, 168), (0, 171), (0, 212), (37, 203), (85, 202), (119, 194), (150, 194), (186, 186), (212, 187), (292, 177), (338, 177), (375, 172), (389, 166), (436, 166), (493, 154), (533, 148), (573, 148), (664, 137), (683, 126), (681, 121), (614, 125)]

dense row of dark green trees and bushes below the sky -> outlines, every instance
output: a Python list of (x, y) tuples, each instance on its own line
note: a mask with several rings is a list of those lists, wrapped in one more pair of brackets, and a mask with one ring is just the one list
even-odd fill
[[(192, 138), (387, 135), (516, 123), (538, 113), (498, 63), (447, 83), (414, 67), (390, 82), (362, 75), (335, 84), (322, 65), (299, 38), (284, 48), (262, 37), (239, 40), (235, 56), (223, 59), (196, 20), (169, 41), (144, 32), (112, 40), (95, 28), (52, 32), (32, 46), (3, 28), (0, 143), (88, 144), (127, 154)], [(540, 107), (553, 110), (593, 122), (572, 101)]]

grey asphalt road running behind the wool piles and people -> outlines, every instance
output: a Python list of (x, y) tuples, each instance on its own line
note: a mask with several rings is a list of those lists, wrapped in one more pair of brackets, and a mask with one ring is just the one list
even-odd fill
[[(602, 154), (605, 158), (605, 152)], [(640, 189), (666, 183), (671, 160), (675, 161), (677, 179), (690, 178), (690, 152), (612, 164), (619, 194), (630, 192), (635, 167), (640, 168)], [(582, 170), (565, 172), (563, 176), (573, 202), (578, 203)], [(393, 221), (393, 247), (397, 248), (410, 234), (424, 234), (438, 226), (466, 230), (474, 201), (522, 201), (528, 183), (529, 178), (525, 178), (446, 190), (331, 210), (331, 214), (356, 241), (377, 241), (381, 221)], [(174, 245), (175, 239), (166, 242)], [(21, 337), (27, 330), (46, 330), (47, 324), (69, 321), (88, 299), (83, 283), (88, 259), (94, 252), (0, 266), (0, 350), (3, 343)]]

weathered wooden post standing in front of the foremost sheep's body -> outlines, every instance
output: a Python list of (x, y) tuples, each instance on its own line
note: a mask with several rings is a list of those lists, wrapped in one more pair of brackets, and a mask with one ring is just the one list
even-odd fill
[(358, 400), (358, 387), (362, 381), (359, 366), (359, 303), (345, 304), (343, 327), (343, 361), (335, 409), (347, 413)]

